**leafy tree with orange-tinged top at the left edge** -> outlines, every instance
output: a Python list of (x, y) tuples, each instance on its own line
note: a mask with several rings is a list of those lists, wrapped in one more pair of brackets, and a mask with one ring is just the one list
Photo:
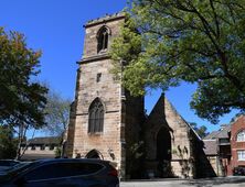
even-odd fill
[(29, 48), (23, 34), (0, 28), (0, 122), (18, 134), (17, 158), (26, 130), (45, 124), (47, 89), (33, 81), (40, 73), (41, 52)]

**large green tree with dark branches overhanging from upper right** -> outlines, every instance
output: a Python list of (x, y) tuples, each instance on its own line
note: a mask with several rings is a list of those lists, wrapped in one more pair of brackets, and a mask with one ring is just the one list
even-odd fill
[(111, 57), (128, 63), (122, 82), (131, 94), (188, 81), (198, 86), (191, 107), (199, 117), (217, 123), (232, 109), (245, 110), (244, 0), (131, 2), (111, 46)]

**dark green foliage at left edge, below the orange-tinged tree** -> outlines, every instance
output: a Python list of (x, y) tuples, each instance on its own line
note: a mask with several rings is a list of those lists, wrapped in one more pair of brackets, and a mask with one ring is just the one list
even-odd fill
[(18, 141), (13, 130), (8, 125), (0, 125), (0, 160), (12, 160), (17, 154)]

